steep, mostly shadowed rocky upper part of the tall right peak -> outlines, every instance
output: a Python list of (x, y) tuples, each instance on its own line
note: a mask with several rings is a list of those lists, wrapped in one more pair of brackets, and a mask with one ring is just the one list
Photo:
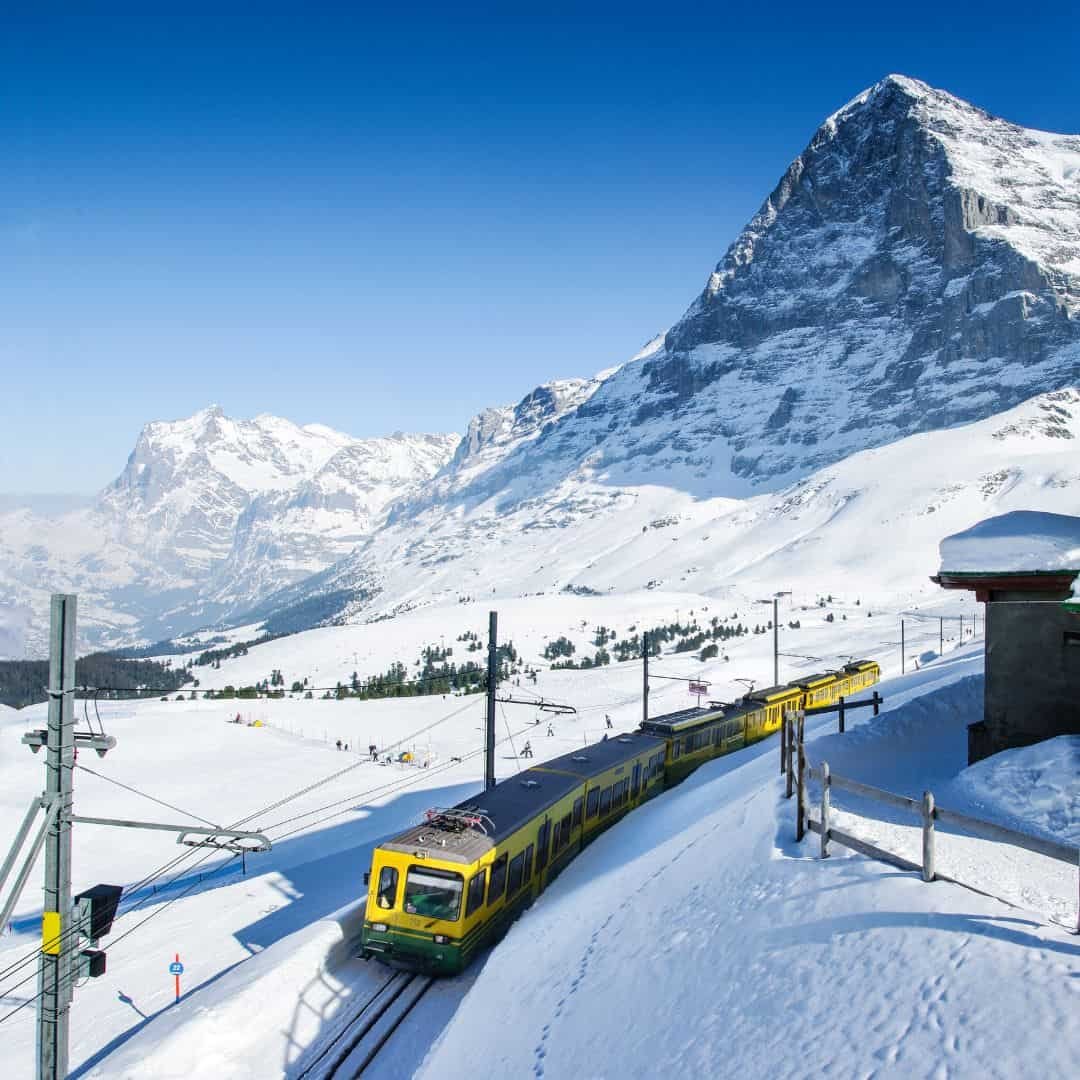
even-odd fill
[(891, 76), (822, 125), (663, 350), (620, 375), (634, 422), (720, 431), (731, 472), (771, 485), (1075, 382), (1078, 315), (1080, 137)]

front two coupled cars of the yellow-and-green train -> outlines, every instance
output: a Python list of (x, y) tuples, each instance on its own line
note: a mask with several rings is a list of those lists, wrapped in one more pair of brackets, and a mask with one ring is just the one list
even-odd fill
[(453, 974), (595, 835), (663, 786), (662, 740), (633, 732), (503, 780), (376, 848), (361, 956)]

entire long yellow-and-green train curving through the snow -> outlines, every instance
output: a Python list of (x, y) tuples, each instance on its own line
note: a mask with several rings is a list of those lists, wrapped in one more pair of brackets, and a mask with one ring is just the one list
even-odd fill
[(581, 849), (720, 754), (775, 731), (786, 710), (833, 704), (880, 677), (842, 671), (649, 719), (637, 731), (503, 780), (375, 849), (361, 956), (454, 974), (497, 941)]

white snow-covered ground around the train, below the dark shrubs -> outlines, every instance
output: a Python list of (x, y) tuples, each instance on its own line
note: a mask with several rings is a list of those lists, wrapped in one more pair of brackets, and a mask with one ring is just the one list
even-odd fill
[[(540, 619), (543, 599), (537, 598), (530, 618)], [(293, 644), (312, 654), (333, 653), (327, 670), (336, 673), (352, 662), (341, 643), (348, 638), (360, 648), (350, 635), (386, 635), (397, 622), (314, 632)], [(525, 639), (516, 631), (526, 623), (531, 625), (523, 613), (516, 625), (510, 618), (501, 625), (507, 637)], [(836, 623), (826, 629), (842, 633)], [(866, 634), (865, 624), (860, 631)], [(333, 635), (340, 638), (337, 647)], [(752, 640), (756, 657), (740, 663), (740, 672), (756, 663), (767, 676), (771, 640)], [(869, 651), (858, 644), (850, 643), (854, 651)], [(255, 663), (256, 651), (232, 663)], [(656, 671), (696, 673), (698, 666), (679, 657), (660, 661)], [(912, 794), (941, 786), (947, 805), (999, 816), (993, 788), (1001, 775), (989, 775), (985, 762), (963, 769), (963, 725), (977, 708), (971, 677), (981, 667), (978, 645), (969, 645), (887, 681), (887, 708), (877, 721), (863, 717), (842, 739), (827, 733), (827, 720), (816, 721), (811, 756), (827, 753), (840, 762), (847, 752), (845, 768), (861, 779)], [(720, 697), (737, 687), (714, 677)], [(505, 706), (500, 775), (517, 768), (514, 752), (525, 738), (542, 759), (597, 738), (605, 713), (617, 727), (634, 726), (639, 679), (639, 664), (626, 663), (542, 673), (536, 686), (515, 687), (523, 697), (570, 701), (579, 713), (554, 718), (549, 737), (546, 716), (537, 726), (535, 708)], [(660, 713), (684, 704), (686, 691), (657, 680), (652, 699)], [(199, 881), (200, 872), (224, 858), (197, 865), (195, 852), (157, 882), (179, 874), (175, 886), (159, 894), (136, 891), (125, 902), (130, 914), (106, 940), (112, 942), (108, 973), (77, 991), (77, 1076), (295, 1071), (309, 1048), (335, 1030), (350, 1001), (380, 980), (373, 964), (351, 959), (356, 899), (373, 845), (429, 807), (480, 788), (482, 760), (470, 756), (482, 741), (478, 697), (239, 706), (245, 719), (264, 727), (226, 723), (237, 707), (201, 700), (103, 706), (119, 745), (105, 760), (80, 765), (218, 823), (349, 771), (252, 820), (247, 827), (266, 828), (275, 846), (248, 856), (246, 876), (238, 860)], [(0, 712), (0, 847), (40, 789), (40, 760), (17, 740), (42, 718), (43, 707)], [(410, 732), (421, 733), (407, 738)], [(337, 739), (351, 751), (368, 742), (402, 743), (430, 764), (374, 765), (335, 750)], [(995, 759), (1010, 777), (1009, 823), (1016, 824), (1018, 800), (1026, 798), (1024, 824), (1075, 836), (1076, 748), (1053, 755), (1051, 745), (1045, 761), (1035, 761), (1031, 751)], [(82, 770), (76, 785), (81, 813), (181, 819)], [(1061, 1023), (1076, 1008), (1080, 950), (1076, 937), (1050, 922), (1056, 909), (1009, 907), (943, 882), (923, 886), (840, 848), (821, 863), (816, 838), (801, 848), (794, 843), (793, 807), (779, 796), (775, 744), (769, 741), (713, 762), (636, 812), (591, 846), (481, 968), (427, 996), (376, 1075), (1076, 1071), (1080, 1037)], [(946, 802), (944, 795), (940, 801)], [(76, 888), (136, 881), (178, 850), (167, 835), (77, 826)], [(978, 862), (987, 883), (998, 865), (987, 850)], [(13, 933), (3, 939), (0, 971), (33, 951), (40, 892), (38, 876), (32, 880)], [(1050, 870), (1040, 877), (1040, 896), (1059, 892), (1056, 880)], [(1075, 919), (1075, 874), (1067, 896)], [(178, 1005), (167, 973), (176, 953), (186, 966), (186, 997)], [(4, 1013), (32, 989), (32, 980), (12, 985), (30, 970), (4, 977)], [(29, 1076), (32, 1008), (3, 1027), (5, 1075)]]

